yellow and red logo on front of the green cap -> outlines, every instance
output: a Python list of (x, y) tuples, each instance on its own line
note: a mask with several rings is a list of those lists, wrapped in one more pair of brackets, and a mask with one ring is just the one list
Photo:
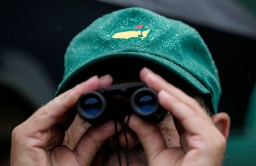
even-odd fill
[[(143, 25), (135, 26), (135, 28), (141, 28)], [(143, 40), (145, 37), (147, 37), (147, 34), (150, 32), (150, 30), (146, 31), (126, 31), (126, 32), (118, 32), (115, 33), (112, 38), (115, 39), (129, 39), (129, 38), (141, 38)]]

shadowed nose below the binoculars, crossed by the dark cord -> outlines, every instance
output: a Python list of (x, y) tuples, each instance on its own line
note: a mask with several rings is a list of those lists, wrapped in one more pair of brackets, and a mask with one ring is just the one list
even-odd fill
[[(122, 130), (118, 136), (119, 145), (122, 146), (123, 148), (126, 148), (126, 139), (125, 139), (125, 133), (126, 133), (127, 142), (128, 142), (127, 148), (132, 149), (134, 146), (136, 146), (139, 143), (138, 136), (129, 127), (126, 127), (125, 130), (126, 130), (126, 132), (124, 132), (124, 130)], [(111, 148), (115, 149), (117, 147), (117, 140), (114, 139), (114, 137), (111, 137), (109, 144), (110, 144)]]

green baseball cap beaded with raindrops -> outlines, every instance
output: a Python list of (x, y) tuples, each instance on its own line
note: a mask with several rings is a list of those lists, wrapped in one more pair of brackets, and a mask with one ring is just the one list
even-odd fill
[(215, 62), (189, 25), (142, 8), (127, 8), (96, 19), (75, 36), (65, 54), (65, 73), (56, 96), (92, 64), (131, 57), (158, 64), (201, 94), (210, 94), (217, 113), (221, 96)]

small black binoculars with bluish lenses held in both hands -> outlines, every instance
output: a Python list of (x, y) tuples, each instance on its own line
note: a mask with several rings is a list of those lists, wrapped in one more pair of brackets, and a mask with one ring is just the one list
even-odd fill
[[(118, 101), (115, 101), (115, 97), (119, 95), (126, 101), (122, 109), (116, 108), (115, 102)], [(144, 82), (118, 84), (99, 89), (98, 92), (84, 93), (76, 106), (79, 116), (92, 125), (112, 119), (123, 120), (132, 113), (144, 120), (159, 123), (167, 115), (167, 110), (158, 102), (156, 91), (147, 88)]]

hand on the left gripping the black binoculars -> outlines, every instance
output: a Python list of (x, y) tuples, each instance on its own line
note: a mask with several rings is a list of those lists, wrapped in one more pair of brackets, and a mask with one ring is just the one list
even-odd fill
[[(39, 108), (12, 132), (11, 165), (90, 165), (100, 146), (115, 134), (113, 122), (89, 128), (74, 150), (61, 145), (81, 94), (110, 86), (109, 75), (91, 77)], [(118, 131), (121, 126), (118, 123)]]

